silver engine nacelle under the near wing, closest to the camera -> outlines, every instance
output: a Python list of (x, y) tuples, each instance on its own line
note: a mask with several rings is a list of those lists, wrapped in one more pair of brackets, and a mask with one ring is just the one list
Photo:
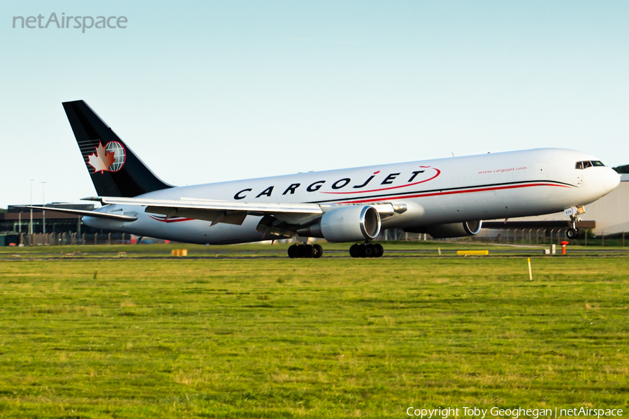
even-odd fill
[(328, 242), (359, 242), (380, 233), (380, 215), (374, 207), (348, 205), (323, 214), (318, 223), (297, 230), (302, 237), (321, 237)]

